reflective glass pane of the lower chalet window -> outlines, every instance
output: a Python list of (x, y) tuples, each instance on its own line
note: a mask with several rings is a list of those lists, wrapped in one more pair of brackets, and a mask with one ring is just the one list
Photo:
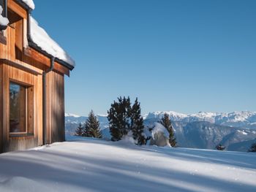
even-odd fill
[(26, 87), (10, 82), (10, 132), (26, 132)]

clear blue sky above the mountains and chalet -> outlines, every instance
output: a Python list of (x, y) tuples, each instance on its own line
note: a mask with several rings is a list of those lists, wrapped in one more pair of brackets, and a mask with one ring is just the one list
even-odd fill
[(256, 1), (34, 0), (33, 16), (76, 61), (66, 112), (256, 111)]

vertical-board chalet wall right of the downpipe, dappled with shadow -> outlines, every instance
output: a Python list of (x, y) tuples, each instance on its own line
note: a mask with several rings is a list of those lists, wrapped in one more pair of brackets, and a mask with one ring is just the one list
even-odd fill
[(64, 142), (64, 75), (49, 72), (46, 76), (47, 99), (47, 143)]

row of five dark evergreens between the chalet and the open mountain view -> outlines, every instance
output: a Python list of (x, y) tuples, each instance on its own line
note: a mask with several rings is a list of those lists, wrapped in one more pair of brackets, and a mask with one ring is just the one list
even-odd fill
[[(127, 98), (118, 97), (117, 101), (113, 101), (110, 110), (108, 110), (108, 121), (111, 140), (113, 142), (121, 140), (123, 137), (127, 136), (128, 133), (132, 134), (136, 145), (146, 145), (148, 139), (151, 139), (144, 134), (145, 126), (138, 98), (136, 98), (132, 104), (129, 96)], [(167, 129), (170, 145), (176, 147), (176, 138), (174, 137), (174, 129), (169, 115), (165, 114), (159, 123)], [(97, 120), (97, 117), (92, 110), (89, 113), (89, 118), (86, 120), (86, 123), (79, 124), (76, 130), (76, 135), (102, 138), (99, 128), (99, 120)]]

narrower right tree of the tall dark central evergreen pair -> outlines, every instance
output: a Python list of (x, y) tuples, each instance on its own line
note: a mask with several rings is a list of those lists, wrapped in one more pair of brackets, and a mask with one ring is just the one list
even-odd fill
[(132, 136), (133, 139), (138, 141), (138, 145), (145, 145), (146, 139), (143, 136), (143, 117), (141, 116), (140, 113), (140, 103), (138, 102), (138, 98), (136, 98), (135, 103), (132, 105), (130, 112)]

